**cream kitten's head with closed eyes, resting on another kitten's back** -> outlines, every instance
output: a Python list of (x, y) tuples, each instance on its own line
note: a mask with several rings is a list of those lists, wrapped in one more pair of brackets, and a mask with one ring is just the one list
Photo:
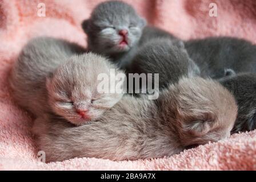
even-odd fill
[[(109, 78), (113, 69), (108, 60), (93, 53), (71, 57), (46, 81), (49, 104), (55, 114), (76, 125), (101, 117), (122, 97), (122, 93), (102, 93), (98, 89), (102, 80), (109, 84), (104, 78), (98, 80), (98, 75), (103, 73)], [(118, 73), (122, 72), (115, 69), (114, 74)]]

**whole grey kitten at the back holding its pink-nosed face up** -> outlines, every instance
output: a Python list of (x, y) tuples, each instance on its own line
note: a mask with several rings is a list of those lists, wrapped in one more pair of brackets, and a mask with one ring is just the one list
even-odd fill
[(175, 39), (163, 30), (145, 26), (146, 20), (132, 6), (121, 1), (100, 3), (90, 18), (82, 23), (88, 49), (110, 57), (122, 68), (133, 59), (138, 46), (147, 40), (158, 37)]

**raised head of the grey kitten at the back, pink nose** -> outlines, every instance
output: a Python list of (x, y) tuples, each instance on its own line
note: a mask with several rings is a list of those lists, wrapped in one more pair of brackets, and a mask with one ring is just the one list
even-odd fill
[(82, 28), (91, 51), (111, 54), (129, 51), (138, 43), (145, 25), (146, 20), (127, 3), (107, 1), (95, 7)]

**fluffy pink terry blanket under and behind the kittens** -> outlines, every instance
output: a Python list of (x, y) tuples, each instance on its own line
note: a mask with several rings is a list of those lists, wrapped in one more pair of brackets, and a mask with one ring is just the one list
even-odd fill
[[(38, 3), (46, 16), (37, 15)], [(22, 46), (35, 36), (53, 36), (86, 47), (81, 22), (98, 2), (90, 0), (0, 1), (0, 169), (82, 170), (191, 170), (256, 169), (256, 131), (234, 134), (179, 155), (162, 159), (112, 162), (80, 158), (45, 164), (38, 162), (30, 129), (30, 115), (11, 99), (7, 84), (10, 68)], [(229, 35), (256, 42), (254, 0), (137, 0), (131, 3), (150, 24), (183, 39)], [(217, 17), (209, 5), (217, 4)]]

